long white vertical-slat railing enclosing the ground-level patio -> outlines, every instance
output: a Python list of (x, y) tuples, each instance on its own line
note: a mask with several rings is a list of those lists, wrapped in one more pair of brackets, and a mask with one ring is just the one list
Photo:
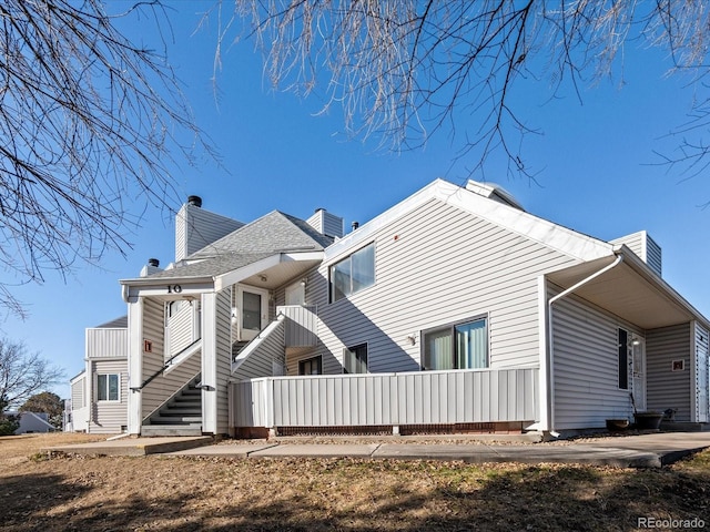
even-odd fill
[(231, 427), (534, 421), (538, 369), (267, 377), (233, 382)]

